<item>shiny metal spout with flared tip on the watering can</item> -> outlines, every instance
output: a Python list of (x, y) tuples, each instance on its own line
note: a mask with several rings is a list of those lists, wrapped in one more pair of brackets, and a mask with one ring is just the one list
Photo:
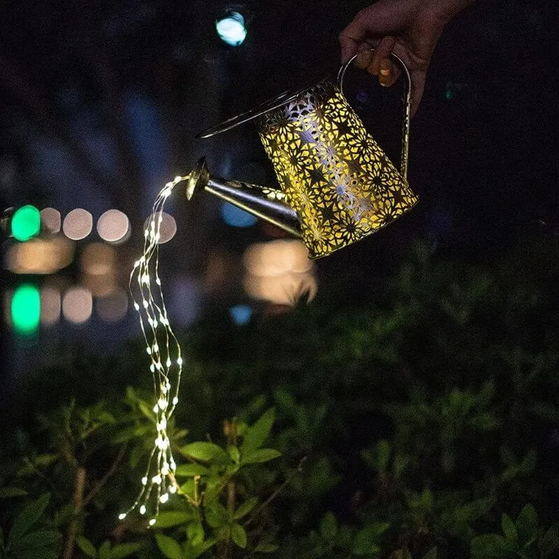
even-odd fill
[(205, 157), (198, 161), (196, 168), (190, 173), (187, 183), (187, 200), (200, 191), (209, 192), (222, 198), (291, 235), (302, 236), (297, 213), (282, 202), (285, 195), (281, 190), (212, 177), (205, 163)]

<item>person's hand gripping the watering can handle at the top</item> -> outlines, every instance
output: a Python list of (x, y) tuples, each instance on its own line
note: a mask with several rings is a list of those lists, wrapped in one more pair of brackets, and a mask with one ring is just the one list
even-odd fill
[[(407, 66), (412, 80), (412, 115), (416, 112), (427, 69), (444, 26), (473, 0), (379, 0), (364, 8), (340, 34), (342, 63), (355, 59), (359, 68), (378, 75), (379, 83), (393, 85), (401, 68), (391, 52)], [(372, 53), (370, 48), (375, 47)]]

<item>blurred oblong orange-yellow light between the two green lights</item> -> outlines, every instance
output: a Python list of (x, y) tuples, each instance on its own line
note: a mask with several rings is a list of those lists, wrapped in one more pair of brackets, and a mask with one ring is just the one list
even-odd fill
[(63, 237), (31, 239), (10, 246), (6, 267), (16, 274), (52, 274), (73, 259), (73, 243)]

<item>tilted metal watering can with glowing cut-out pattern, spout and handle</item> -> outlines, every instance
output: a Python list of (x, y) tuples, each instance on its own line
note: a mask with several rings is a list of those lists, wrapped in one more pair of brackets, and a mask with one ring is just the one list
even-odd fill
[(201, 159), (190, 174), (187, 198), (205, 190), (303, 239), (311, 259), (375, 233), (418, 201), (407, 184), (411, 80), (404, 99), (400, 171), (365, 130), (343, 94), (352, 57), (337, 75), (284, 93), (199, 133), (209, 138), (249, 120), (272, 161), (281, 190), (212, 177)]

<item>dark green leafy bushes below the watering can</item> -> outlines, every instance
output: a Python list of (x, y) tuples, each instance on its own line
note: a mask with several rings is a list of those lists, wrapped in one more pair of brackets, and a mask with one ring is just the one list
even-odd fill
[(155, 436), (140, 346), (104, 389), (108, 365), (59, 368), (57, 384), (92, 379), (79, 405), (38, 372), (27, 393), (50, 400), (0, 460), (3, 534), (14, 503), (49, 492), (34, 525), (62, 533), (55, 556), (73, 539), (75, 558), (99, 559), (553, 558), (557, 252), (472, 263), (418, 245), (368, 305), (334, 293), (245, 327), (198, 324), (168, 424), (180, 489), (151, 529), (115, 520)]

